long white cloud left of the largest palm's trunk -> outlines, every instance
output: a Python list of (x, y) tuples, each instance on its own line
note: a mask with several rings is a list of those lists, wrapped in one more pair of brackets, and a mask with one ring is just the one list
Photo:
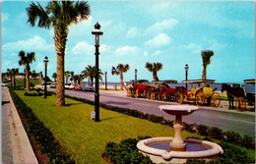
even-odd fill
[(27, 40), (19, 40), (16, 42), (8, 42), (3, 45), (3, 51), (12, 52), (17, 50), (37, 51), (54, 49), (54, 44), (48, 44), (45, 39), (35, 35)]

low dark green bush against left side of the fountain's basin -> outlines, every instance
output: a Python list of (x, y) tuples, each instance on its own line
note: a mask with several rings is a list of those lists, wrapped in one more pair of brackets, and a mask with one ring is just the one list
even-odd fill
[(153, 164), (149, 157), (145, 157), (142, 153), (138, 152), (136, 144), (142, 138), (128, 138), (122, 140), (119, 144), (108, 142), (106, 143), (103, 156), (106, 156), (115, 164)]

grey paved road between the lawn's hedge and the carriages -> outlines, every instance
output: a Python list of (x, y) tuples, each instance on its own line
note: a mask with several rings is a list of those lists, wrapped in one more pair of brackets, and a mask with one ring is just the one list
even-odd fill
[[(54, 91), (55, 89), (51, 89)], [(163, 116), (167, 120), (174, 120), (174, 116), (165, 114), (159, 110), (162, 104), (177, 104), (175, 102), (152, 101), (145, 98), (130, 98), (119, 91), (100, 90), (100, 103), (114, 105), (129, 109), (135, 109), (144, 113)], [(95, 100), (94, 92), (84, 92), (75, 90), (66, 90), (65, 94)], [(206, 125), (210, 127), (219, 127), (224, 131), (234, 131), (240, 135), (255, 136), (255, 113), (253, 112), (237, 112), (226, 108), (203, 107), (191, 115), (184, 116), (182, 121), (198, 125)]]

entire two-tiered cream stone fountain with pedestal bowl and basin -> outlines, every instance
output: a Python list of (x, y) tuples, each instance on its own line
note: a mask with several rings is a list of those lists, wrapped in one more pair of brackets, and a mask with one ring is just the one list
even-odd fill
[(224, 153), (223, 148), (214, 142), (182, 138), (184, 129), (182, 116), (190, 115), (199, 108), (186, 105), (160, 105), (160, 110), (175, 116), (174, 137), (153, 137), (141, 140), (137, 148), (150, 156), (155, 163), (184, 163), (187, 158), (214, 159)]

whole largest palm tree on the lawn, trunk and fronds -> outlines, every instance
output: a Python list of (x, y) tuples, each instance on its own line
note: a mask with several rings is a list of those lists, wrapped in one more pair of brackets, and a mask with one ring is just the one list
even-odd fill
[[(27, 8), (29, 16), (28, 23), (34, 27), (53, 27), (54, 41), (57, 53), (57, 87), (56, 87), (56, 106), (65, 105), (64, 88), (64, 59), (68, 32), (72, 24), (88, 20), (91, 14), (90, 6), (87, 1), (50, 1), (45, 9), (39, 3), (30, 4)], [(38, 19), (38, 21), (37, 21)]]

